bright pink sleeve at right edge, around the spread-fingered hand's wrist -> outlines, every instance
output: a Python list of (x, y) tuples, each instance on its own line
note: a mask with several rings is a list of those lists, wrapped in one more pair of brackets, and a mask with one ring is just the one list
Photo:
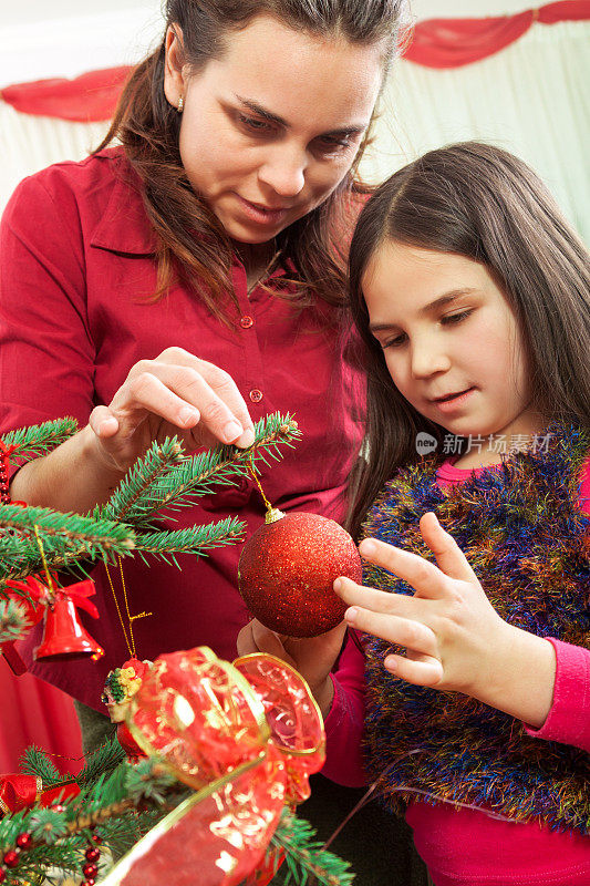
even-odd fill
[[(580, 506), (590, 514), (590, 460), (582, 472)], [(525, 728), (534, 738), (590, 752), (590, 650), (548, 639), (557, 657), (553, 704), (540, 729)]]

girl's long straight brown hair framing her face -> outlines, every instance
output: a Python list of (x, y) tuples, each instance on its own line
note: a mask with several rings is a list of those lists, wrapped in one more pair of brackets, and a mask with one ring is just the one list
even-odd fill
[(349, 258), (350, 303), (368, 369), (366, 460), (351, 477), (348, 526), (358, 535), (380, 488), (415, 462), (416, 434), (444, 429), (393, 383), (369, 330), (365, 268), (387, 239), (480, 261), (513, 308), (526, 348), (531, 405), (550, 421), (590, 427), (590, 262), (544, 183), (499, 147), (465, 142), (400, 169), (364, 206)]

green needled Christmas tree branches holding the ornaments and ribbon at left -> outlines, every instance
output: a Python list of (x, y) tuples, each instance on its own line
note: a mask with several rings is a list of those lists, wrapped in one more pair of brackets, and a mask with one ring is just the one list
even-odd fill
[[(76, 430), (75, 421), (63, 419), (11, 432), (2, 440), (4, 462), (7, 452), (19, 464), (43, 455)], [(290, 415), (273, 414), (258, 422), (255, 436), (249, 450), (220, 446), (196, 456), (185, 455), (176, 439), (154, 443), (112, 497), (86, 516), (1, 504), (0, 643), (13, 641), (29, 626), (27, 591), (14, 581), (46, 576), (51, 585), (48, 570), (60, 577), (72, 573), (79, 579), (96, 562), (130, 556), (146, 562), (159, 557), (174, 568), (177, 554), (199, 556), (244, 538), (245, 525), (232, 517), (180, 530), (163, 529), (157, 521), (163, 513), (169, 518), (176, 508), (251, 475), (260, 462), (269, 465), (268, 460), (279, 459), (280, 447), (292, 446), (300, 432)], [(24, 752), (21, 771), (40, 777), (43, 790), (56, 791), (58, 796), (49, 807), (35, 803), (0, 820), (0, 883), (7, 886), (60, 884), (66, 874), (80, 882), (89, 858), (97, 858), (99, 846), (121, 855), (192, 794), (165, 761), (155, 756), (132, 764), (116, 740), (89, 756), (75, 777), (60, 774), (38, 748)], [(80, 789), (75, 796), (69, 795), (72, 786)], [(284, 883), (350, 884), (348, 865), (313, 837), (309, 825), (286, 808), (268, 851), (269, 858), (278, 851), (284, 854)], [(102, 874), (101, 869), (97, 882)], [(95, 879), (96, 875), (86, 882)]]

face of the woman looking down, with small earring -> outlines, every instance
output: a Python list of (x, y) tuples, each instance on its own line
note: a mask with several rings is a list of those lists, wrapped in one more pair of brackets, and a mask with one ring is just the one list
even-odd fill
[(321, 204), (350, 169), (382, 78), (381, 43), (322, 39), (259, 16), (190, 75), (167, 35), (164, 87), (184, 96), (180, 157), (228, 235), (261, 244)]

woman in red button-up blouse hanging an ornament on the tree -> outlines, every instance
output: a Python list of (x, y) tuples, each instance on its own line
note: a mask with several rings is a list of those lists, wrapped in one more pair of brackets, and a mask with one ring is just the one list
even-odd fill
[[(253, 421), (281, 410), (303, 440), (265, 477), (267, 495), (342, 517), (362, 432), (338, 343), (341, 244), (403, 6), (168, 0), (164, 40), (97, 152), (21, 183), (0, 243), (1, 427), (70, 414), (82, 430), (23, 467), (13, 498), (86, 512), (153, 440), (248, 446)], [(251, 484), (176, 526), (228, 514), (249, 532), (261, 523)], [(247, 621), (238, 555), (183, 558), (178, 571), (125, 564), (131, 611), (154, 614), (135, 622), (141, 658), (200, 643), (234, 658)], [(128, 651), (104, 570), (93, 577), (105, 657), (32, 671), (99, 712)]]

